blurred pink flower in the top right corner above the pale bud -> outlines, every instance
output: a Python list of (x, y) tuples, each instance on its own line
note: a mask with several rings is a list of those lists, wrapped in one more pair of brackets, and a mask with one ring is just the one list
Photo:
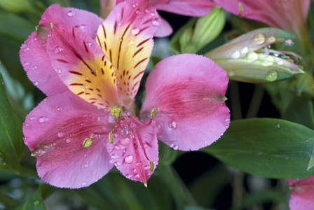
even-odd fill
[(222, 8), (243, 18), (264, 22), (300, 37), (306, 24), (310, 0), (214, 0)]

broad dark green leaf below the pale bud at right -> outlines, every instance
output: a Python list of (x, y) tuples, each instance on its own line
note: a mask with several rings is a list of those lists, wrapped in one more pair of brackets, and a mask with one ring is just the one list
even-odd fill
[(274, 179), (301, 179), (314, 148), (314, 131), (286, 120), (234, 120), (225, 134), (202, 151), (244, 172)]

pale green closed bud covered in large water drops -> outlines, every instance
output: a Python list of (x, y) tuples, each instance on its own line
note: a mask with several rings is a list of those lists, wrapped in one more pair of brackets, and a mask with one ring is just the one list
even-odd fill
[(205, 54), (224, 68), (228, 77), (248, 83), (265, 83), (304, 73), (294, 52), (273, 50), (273, 43), (293, 45), (294, 35), (275, 28), (250, 31)]

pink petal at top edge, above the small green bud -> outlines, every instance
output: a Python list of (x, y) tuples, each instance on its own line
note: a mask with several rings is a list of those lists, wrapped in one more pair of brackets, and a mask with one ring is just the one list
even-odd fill
[(194, 17), (207, 15), (212, 7), (217, 6), (217, 3), (210, 0), (151, 0), (149, 3), (157, 10)]

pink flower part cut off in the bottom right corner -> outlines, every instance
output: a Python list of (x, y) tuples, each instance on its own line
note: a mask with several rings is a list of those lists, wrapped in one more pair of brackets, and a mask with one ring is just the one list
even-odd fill
[(286, 180), (292, 190), (289, 207), (291, 210), (311, 210), (314, 205), (314, 176), (306, 179)]

